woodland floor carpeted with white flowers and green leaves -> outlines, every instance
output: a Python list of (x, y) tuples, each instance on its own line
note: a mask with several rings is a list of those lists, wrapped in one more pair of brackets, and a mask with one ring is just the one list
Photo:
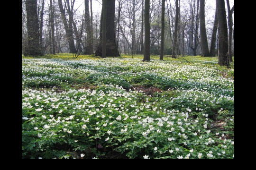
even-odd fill
[(234, 62), (142, 58), (22, 56), (22, 158), (234, 158)]

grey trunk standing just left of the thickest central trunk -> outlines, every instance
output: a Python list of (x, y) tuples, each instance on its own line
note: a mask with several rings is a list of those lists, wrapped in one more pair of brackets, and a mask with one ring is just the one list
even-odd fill
[(84, 54), (91, 55), (93, 53), (93, 48), (92, 48), (92, 31), (91, 31), (91, 21), (90, 21), (90, 12), (89, 12), (89, 0), (85, 0), (84, 4), (85, 4), (85, 14), (84, 14), (85, 30), (87, 35), (86, 48), (85, 48)]

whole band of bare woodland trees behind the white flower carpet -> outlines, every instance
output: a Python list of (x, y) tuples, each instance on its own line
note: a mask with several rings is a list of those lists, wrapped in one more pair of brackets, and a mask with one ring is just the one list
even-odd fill
[(205, 0), (98, 1), (101, 13), (92, 10), (92, 0), (22, 0), (22, 53), (143, 54), (143, 61), (152, 54), (160, 59), (201, 55), (219, 56), (219, 65), (232, 62), (234, 5), (229, 0), (216, 0), (210, 20), (205, 20)]

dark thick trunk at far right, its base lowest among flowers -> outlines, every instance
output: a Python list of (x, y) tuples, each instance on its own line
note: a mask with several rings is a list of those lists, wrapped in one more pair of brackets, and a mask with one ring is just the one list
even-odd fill
[(224, 0), (216, 0), (218, 23), (219, 23), (219, 62), (220, 66), (229, 67), (228, 57), (228, 26)]

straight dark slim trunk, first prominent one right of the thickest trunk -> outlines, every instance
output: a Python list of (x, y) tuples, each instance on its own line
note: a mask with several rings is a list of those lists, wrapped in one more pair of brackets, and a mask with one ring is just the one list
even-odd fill
[(145, 0), (145, 10), (144, 10), (144, 20), (145, 20), (145, 30), (144, 30), (144, 58), (142, 61), (150, 61), (150, 23), (149, 23), (149, 9), (150, 0)]

